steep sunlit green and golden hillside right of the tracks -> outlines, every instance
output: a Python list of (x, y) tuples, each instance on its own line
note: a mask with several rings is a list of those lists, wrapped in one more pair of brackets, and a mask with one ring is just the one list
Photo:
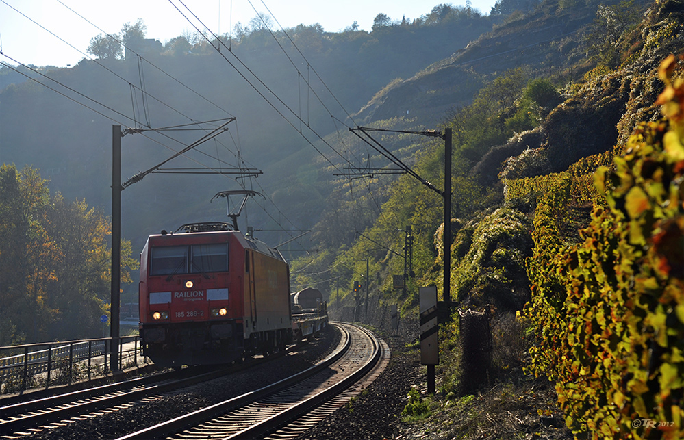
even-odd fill
[[(553, 8), (561, 3), (544, 2), (529, 16), (566, 14)], [(539, 62), (553, 49), (522, 68), (479, 66), (483, 87), (472, 101), (460, 107), (453, 94), (460, 108), (433, 119), (454, 131), (448, 270), (452, 307), (461, 313), (440, 326), (438, 394), (427, 396), (424, 383), (407, 380), (405, 389), (419, 393), (411, 391), (401, 415), (373, 428), (395, 438), (681, 438), (684, 4), (587, 8), (594, 12), (583, 16), (585, 25), (563, 38), (566, 64)], [(570, 17), (577, 18), (559, 23)], [(625, 18), (612, 40), (599, 38), (599, 31), (608, 35), (607, 17)], [(516, 47), (531, 22), (517, 21), (520, 34), (516, 22), (504, 26)], [(504, 41), (500, 29), (452, 58), (498, 53), (492, 42)], [(406, 103), (448, 103), (429, 92), (450, 83), (448, 68), (440, 68), (447, 65), (396, 81), (359, 116), (378, 127), (410, 127)], [(477, 77), (463, 70), (452, 84)], [(392, 142), (390, 135), (383, 142)], [(412, 170), (440, 182), (444, 144), (419, 142)], [(369, 187), (379, 182), (368, 179)], [(386, 315), (396, 304), (399, 332), (417, 341), (417, 287), (442, 290), (442, 200), (408, 176), (382, 194), (377, 220), (353, 246), (302, 259), (293, 272), (302, 284), (350, 281), (339, 294), (332, 285), (329, 291), (333, 316), (353, 319), (364, 299), (349, 294), (349, 284), (364, 279), (368, 259), (377, 296), (361, 320), (393, 334)], [(411, 225), (411, 235), (393, 235), (399, 225)], [(392, 275), (407, 274), (398, 252), (409, 243), (405, 257), (416, 276), (405, 276), (408, 289), (396, 290)], [(466, 308), (490, 317), (490, 350), (486, 332), (466, 333)], [(410, 350), (402, 355), (417, 355)], [(360, 404), (379, 402), (370, 396)], [(368, 430), (362, 417), (341, 418)]]

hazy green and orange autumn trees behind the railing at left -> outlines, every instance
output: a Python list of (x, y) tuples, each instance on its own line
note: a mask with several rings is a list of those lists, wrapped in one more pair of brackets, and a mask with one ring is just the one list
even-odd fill
[[(50, 197), (38, 171), (0, 168), (0, 344), (99, 335), (110, 298), (111, 233), (84, 200)], [(122, 280), (138, 261), (122, 242)]]

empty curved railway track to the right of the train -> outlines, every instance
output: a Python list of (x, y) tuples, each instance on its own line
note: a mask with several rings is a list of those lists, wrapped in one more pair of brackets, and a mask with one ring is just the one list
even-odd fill
[(346, 339), (340, 344), (344, 350), (309, 370), (118, 440), (296, 437), (348, 402), (388, 361), (388, 347), (370, 332), (337, 325)]

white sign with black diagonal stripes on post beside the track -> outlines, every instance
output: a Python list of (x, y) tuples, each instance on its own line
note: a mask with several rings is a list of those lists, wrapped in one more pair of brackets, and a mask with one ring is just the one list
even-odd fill
[(427, 365), (427, 392), (435, 393), (435, 365), (440, 363), (437, 320), (437, 287), (419, 287), (420, 363)]

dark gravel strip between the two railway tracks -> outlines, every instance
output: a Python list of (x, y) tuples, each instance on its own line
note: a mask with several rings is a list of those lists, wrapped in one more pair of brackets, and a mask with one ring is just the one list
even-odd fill
[[(230, 374), (225, 378), (191, 387), (184, 393), (162, 396), (155, 400), (147, 399), (97, 417), (80, 417), (77, 422), (66, 423), (58, 428), (44, 428), (22, 439), (96, 440), (122, 437), (129, 432), (240, 396), (305, 370), (330, 354), (339, 340), (340, 331), (329, 326), (314, 341), (301, 346), (296, 354), (268, 362), (250, 372)], [(105, 411), (101, 411), (103, 412)]]

